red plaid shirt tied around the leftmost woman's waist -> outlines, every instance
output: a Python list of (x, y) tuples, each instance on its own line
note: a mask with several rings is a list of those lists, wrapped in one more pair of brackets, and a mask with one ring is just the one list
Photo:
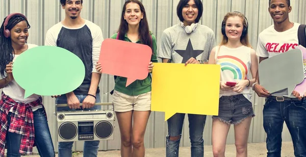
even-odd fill
[[(5, 141), (7, 130), (12, 133), (21, 134), (21, 145), (19, 152), (21, 154), (32, 154), (34, 145), (34, 118), (32, 109), (35, 106), (42, 105), (42, 98), (30, 103), (16, 102), (9, 96), (2, 93), (0, 100), (0, 156), (4, 156)], [(11, 124), (8, 128), (8, 113), (13, 107)]]

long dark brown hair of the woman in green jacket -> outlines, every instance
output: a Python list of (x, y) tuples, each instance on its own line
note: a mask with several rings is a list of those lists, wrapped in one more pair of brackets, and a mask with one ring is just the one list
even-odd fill
[(126, 22), (126, 20), (123, 17), (125, 10), (126, 10), (126, 5), (129, 3), (136, 3), (139, 5), (140, 11), (141, 13), (143, 13), (143, 18), (140, 20), (139, 28), (138, 28), (139, 38), (142, 44), (148, 45), (152, 48), (152, 39), (150, 37), (151, 33), (149, 31), (149, 24), (146, 18), (145, 9), (142, 3), (138, 0), (127, 0), (124, 2), (123, 8), (122, 8), (120, 25), (118, 29), (119, 40), (124, 40), (124, 36), (126, 32), (129, 31), (129, 24)]

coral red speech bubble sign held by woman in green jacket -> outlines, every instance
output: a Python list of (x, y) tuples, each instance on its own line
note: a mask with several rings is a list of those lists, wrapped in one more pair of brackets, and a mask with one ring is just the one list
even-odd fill
[(127, 87), (148, 76), (151, 55), (152, 49), (147, 45), (106, 39), (102, 42), (98, 63), (102, 73), (126, 77)]

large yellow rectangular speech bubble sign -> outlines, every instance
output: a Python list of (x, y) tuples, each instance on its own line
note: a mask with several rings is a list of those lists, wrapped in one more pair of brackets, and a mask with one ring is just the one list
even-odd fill
[(151, 111), (218, 115), (220, 65), (154, 63)]

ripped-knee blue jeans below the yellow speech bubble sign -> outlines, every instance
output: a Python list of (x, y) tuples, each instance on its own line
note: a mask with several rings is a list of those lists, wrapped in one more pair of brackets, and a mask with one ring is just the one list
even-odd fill
[[(171, 141), (169, 137), (182, 136), (183, 122), (185, 114), (176, 113), (167, 120), (168, 136), (166, 138), (166, 156), (179, 156), (181, 137), (177, 141)], [(191, 156), (204, 155), (203, 130), (206, 121), (206, 115), (188, 114), (189, 120), (189, 138), (191, 142)]]

